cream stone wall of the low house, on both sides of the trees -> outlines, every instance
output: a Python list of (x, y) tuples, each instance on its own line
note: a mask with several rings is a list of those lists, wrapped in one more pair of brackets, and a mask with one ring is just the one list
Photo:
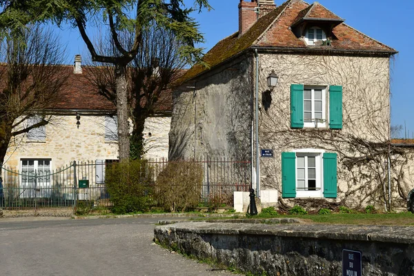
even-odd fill
[[(104, 118), (103, 115), (81, 115), (81, 124), (77, 128), (76, 115), (54, 116), (46, 125), (46, 141), (28, 141), (26, 135), (14, 137), (4, 166), (20, 169), (21, 159), (51, 159), (51, 168), (55, 170), (74, 160), (118, 159), (117, 141), (105, 141)], [(147, 158), (167, 157), (169, 130), (170, 117), (146, 120)]]

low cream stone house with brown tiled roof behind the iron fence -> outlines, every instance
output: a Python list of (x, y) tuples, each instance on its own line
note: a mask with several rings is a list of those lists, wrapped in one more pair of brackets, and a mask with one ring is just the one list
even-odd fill
[[(72, 161), (103, 163), (118, 159), (115, 105), (98, 94), (88, 75), (91, 71), (82, 70), (80, 56), (75, 57), (75, 66), (62, 67), (73, 73), (59, 92), (57, 104), (47, 110), (52, 116), (50, 123), (13, 137), (3, 166), (23, 173), (50, 172)], [(168, 155), (170, 92), (165, 97), (154, 117), (146, 120), (147, 158)], [(27, 124), (35, 124), (36, 120), (34, 117)], [(97, 179), (102, 181), (102, 176)]]

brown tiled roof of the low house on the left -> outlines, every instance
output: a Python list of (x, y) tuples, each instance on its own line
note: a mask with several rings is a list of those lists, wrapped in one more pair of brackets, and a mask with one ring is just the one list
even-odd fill
[[(99, 70), (99, 68), (97, 68)], [(99, 95), (97, 88), (91, 83), (92, 71), (83, 68), (82, 74), (74, 74), (73, 66), (62, 66), (62, 74), (68, 74), (68, 80), (59, 92), (57, 101), (52, 109), (57, 110), (101, 110), (115, 111), (115, 105)], [(172, 110), (172, 94), (166, 90), (161, 94), (155, 106), (155, 112)]]

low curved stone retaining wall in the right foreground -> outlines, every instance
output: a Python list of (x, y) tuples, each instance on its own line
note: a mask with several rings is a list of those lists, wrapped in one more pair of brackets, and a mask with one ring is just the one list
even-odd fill
[(185, 222), (154, 231), (160, 244), (255, 275), (342, 275), (344, 249), (362, 252), (364, 276), (414, 275), (414, 227)]

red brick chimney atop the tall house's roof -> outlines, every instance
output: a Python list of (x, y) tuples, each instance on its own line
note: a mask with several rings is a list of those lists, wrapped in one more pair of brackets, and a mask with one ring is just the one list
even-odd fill
[(240, 0), (239, 37), (241, 37), (260, 17), (276, 8), (275, 0)]

